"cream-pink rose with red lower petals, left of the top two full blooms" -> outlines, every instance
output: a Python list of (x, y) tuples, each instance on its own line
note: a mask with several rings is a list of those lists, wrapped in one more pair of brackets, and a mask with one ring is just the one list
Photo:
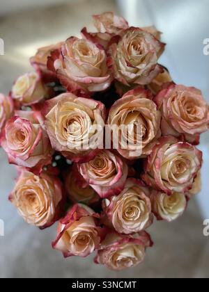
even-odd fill
[(98, 92), (111, 85), (107, 56), (99, 45), (72, 37), (63, 44), (62, 56), (63, 60), (54, 61), (54, 68), (68, 91)]

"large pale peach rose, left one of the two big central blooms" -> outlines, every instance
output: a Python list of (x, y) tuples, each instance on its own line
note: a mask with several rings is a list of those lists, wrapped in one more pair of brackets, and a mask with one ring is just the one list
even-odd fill
[(53, 149), (75, 162), (93, 159), (103, 139), (104, 104), (64, 93), (45, 102), (42, 114)]

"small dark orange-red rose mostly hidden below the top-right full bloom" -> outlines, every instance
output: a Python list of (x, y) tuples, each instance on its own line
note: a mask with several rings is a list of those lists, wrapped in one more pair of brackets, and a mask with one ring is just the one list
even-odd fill
[(163, 87), (172, 81), (169, 72), (164, 69), (164, 71), (158, 74), (155, 79), (148, 85), (148, 88), (153, 92), (154, 95), (157, 95)]

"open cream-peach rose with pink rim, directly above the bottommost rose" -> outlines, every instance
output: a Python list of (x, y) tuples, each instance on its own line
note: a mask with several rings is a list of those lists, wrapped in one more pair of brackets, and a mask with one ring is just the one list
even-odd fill
[(104, 200), (103, 208), (116, 232), (133, 234), (153, 223), (150, 190), (137, 179), (127, 179), (120, 195)]

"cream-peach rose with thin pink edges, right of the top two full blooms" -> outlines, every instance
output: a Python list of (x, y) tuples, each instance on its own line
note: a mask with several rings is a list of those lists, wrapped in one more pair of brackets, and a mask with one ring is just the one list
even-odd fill
[(164, 44), (154, 35), (131, 27), (123, 31), (118, 44), (113, 40), (109, 47), (109, 67), (115, 79), (126, 86), (146, 85), (162, 72), (157, 60), (163, 51)]

